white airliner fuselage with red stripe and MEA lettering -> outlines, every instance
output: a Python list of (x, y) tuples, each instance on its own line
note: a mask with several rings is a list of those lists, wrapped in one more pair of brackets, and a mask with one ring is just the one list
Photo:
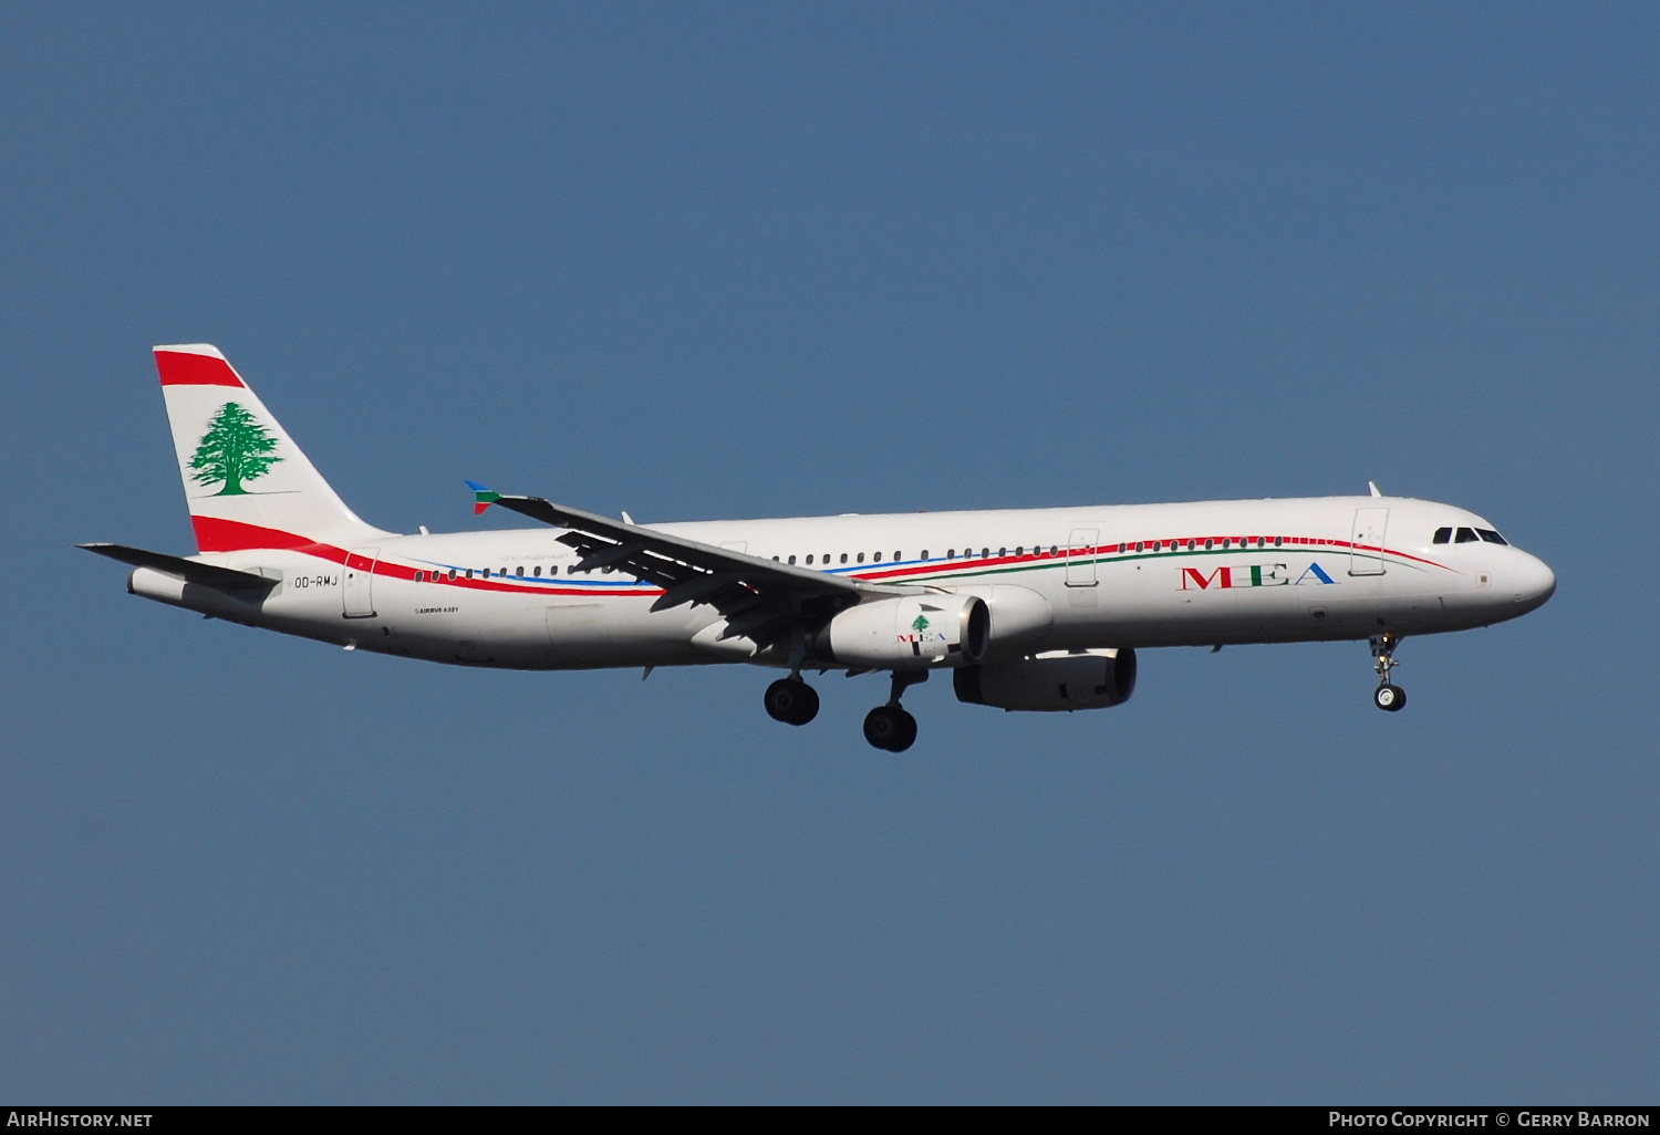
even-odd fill
[[(978, 594), (994, 657), (1097, 647), (1220, 645), (1462, 631), (1526, 614), (1555, 579), (1491, 529), (1408, 498), (1104, 504), (973, 513), (702, 521), (656, 529), (875, 582)], [(387, 536), (198, 559), (279, 581), (237, 597), (139, 568), (131, 589), (287, 634), (435, 662), (513, 669), (780, 664), (717, 641), (710, 606), (652, 611), (662, 594), (603, 569), (573, 574), (556, 528)], [(1004, 591), (993, 591), (1004, 589)], [(1023, 589), (1006, 591), (1006, 589)], [(1047, 627), (1031, 626), (1047, 607)], [(1018, 599), (1019, 602), (1009, 602)], [(999, 637), (999, 611), (1019, 611)], [(989, 659), (988, 659), (989, 660)], [(832, 657), (812, 665), (838, 665)]]

